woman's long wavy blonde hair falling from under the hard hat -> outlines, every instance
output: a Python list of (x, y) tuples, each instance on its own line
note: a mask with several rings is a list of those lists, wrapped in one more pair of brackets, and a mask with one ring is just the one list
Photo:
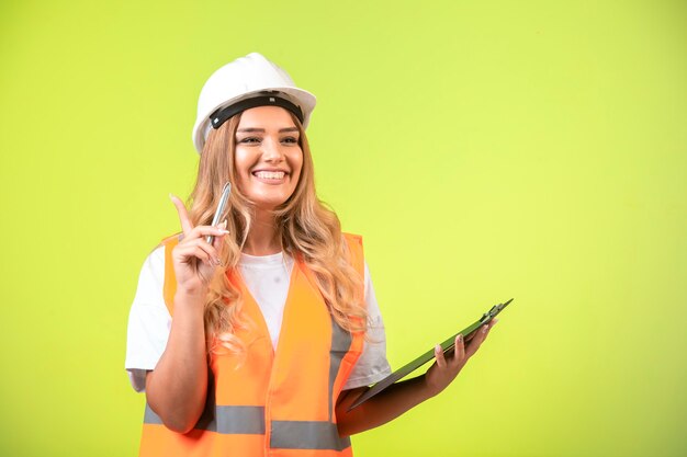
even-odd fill
[[(274, 210), (274, 221), (284, 253), (303, 261), (317, 281), (319, 290), (336, 322), (349, 332), (364, 332), (367, 311), (363, 304), (363, 278), (351, 265), (350, 253), (341, 235), (336, 214), (315, 193), (313, 158), (300, 121), (291, 115), (299, 128), (303, 167), (291, 197)], [(234, 163), (235, 135), (240, 113), (207, 136), (198, 179), (189, 197), (189, 216), (194, 226), (210, 225), (217, 207), (224, 183), (238, 182)], [(254, 205), (233, 185), (226, 215), (229, 235), (224, 237), (222, 261), (227, 270), (235, 269), (250, 231)], [(296, 267), (296, 266), (294, 266)], [(205, 302), (205, 336), (210, 352), (225, 347), (241, 353), (243, 342), (235, 336), (238, 329), (251, 325), (241, 315), (240, 290), (228, 281), (225, 271), (212, 278)]]

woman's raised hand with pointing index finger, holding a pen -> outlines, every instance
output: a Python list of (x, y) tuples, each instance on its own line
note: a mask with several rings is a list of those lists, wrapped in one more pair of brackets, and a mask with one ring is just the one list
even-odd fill
[[(172, 250), (177, 290), (204, 296), (215, 270), (222, 266), (219, 250), (222, 238), (228, 233), (226, 220), (217, 227), (193, 227), (183, 203), (173, 195), (170, 195), (170, 198), (177, 207), (183, 231), (183, 239)], [(209, 235), (214, 237), (212, 245), (205, 240)]]

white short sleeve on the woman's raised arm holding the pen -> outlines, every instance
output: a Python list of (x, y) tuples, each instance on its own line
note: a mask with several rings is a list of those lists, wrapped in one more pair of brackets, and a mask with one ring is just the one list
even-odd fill
[(134, 390), (146, 387), (146, 373), (155, 369), (167, 346), (171, 316), (165, 305), (165, 248), (159, 247), (145, 260), (138, 276), (136, 296), (128, 315), (126, 361)]

